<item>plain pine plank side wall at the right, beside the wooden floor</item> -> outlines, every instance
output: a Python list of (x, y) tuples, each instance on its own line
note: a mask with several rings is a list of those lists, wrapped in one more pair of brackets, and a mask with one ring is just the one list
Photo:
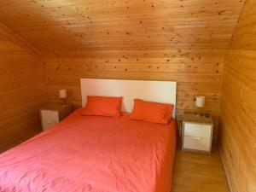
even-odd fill
[(220, 151), (233, 192), (256, 191), (256, 2), (247, 0), (224, 67)]

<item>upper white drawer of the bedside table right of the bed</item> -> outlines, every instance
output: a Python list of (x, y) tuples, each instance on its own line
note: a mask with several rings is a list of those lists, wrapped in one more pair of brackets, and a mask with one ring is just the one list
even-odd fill
[(184, 136), (211, 138), (212, 125), (185, 123)]

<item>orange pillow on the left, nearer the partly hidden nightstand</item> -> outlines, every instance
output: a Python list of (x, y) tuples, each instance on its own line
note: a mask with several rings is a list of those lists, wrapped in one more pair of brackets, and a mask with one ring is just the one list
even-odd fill
[(87, 96), (87, 103), (82, 115), (102, 115), (119, 117), (122, 97)]

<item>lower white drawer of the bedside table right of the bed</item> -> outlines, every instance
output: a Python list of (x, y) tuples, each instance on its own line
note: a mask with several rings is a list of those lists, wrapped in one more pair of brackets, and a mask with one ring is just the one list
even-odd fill
[(211, 139), (203, 137), (184, 136), (183, 148), (195, 149), (201, 151), (210, 151)]

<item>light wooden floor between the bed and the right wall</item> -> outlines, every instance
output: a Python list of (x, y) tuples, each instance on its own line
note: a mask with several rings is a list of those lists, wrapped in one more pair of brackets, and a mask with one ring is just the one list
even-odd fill
[(178, 149), (173, 172), (172, 192), (229, 191), (217, 148), (212, 150), (212, 155), (191, 154)]

